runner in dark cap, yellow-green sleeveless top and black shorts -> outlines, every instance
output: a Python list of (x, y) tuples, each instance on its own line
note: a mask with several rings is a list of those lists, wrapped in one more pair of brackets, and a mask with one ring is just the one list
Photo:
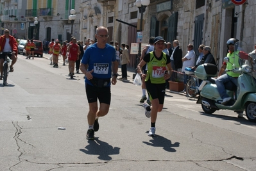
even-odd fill
[[(143, 60), (137, 67), (137, 72), (141, 74), (142, 79), (145, 80), (146, 89), (150, 96), (152, 105), (144, 103), (146, 117), (151, 117), (151, 128), (148, 136), (155, 136), (155, 122), (157, 120), (157, 113), (162, 111), (164, 106), (164, 96), (166, 94), (166, 79), (169, 79), (173, 70), (171, 69), (170, 57), (163, 53), (164, 38), (154, 38), (155, 51), (146, 54)], [(148, 64), (147, 74), (142, 74), (142, 67)]]

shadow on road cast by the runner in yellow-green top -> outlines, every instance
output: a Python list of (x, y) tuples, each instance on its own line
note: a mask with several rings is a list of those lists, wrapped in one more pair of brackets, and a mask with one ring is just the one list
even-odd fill
[(173, 147), (180, 147), (179, 142), (171, 143), (171, 140), (168, 140), (167, 138), (164, 138), (163, 136), (157, 135), (153, 137), (152, 140), (149, 140), (149, 142), (143, 142), (146, 143), (146, 145), (151, 145), (153, 147), (163, 147), (165, 151), (168, 152), (176, 152), (176, 149)]

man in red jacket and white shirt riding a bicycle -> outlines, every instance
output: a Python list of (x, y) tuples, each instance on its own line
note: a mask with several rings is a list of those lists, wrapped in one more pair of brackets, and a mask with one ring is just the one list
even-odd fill
[(10, 72), (13, 72), (13, 65), (17, 61), (17, 54), (18, 54), (18, 44), (14, 37), (10, 35), (10, 31), (8, 29), (4, 29), (4, 35), (0, 37), (0, 80), (3, 79), (3, 63), (5, 60), (4, 53), (8, 53), (12, 51), (12, 55), (8, 54), (9, 58), (12, 59), (12, 64), (10, 65)]

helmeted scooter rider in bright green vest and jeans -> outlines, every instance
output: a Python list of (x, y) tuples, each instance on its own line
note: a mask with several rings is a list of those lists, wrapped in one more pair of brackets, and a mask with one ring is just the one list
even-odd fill
[[(239, 64), (239, 50), (235, 51), (235, 43), (238, 42), (236, 38), (230, 38), (227, 42), (226, 45), (228, 47), (228, 54), (226, 54), (226, 57), (229, 58), (230, 62), (226, 63), (223, 62), (223, 65), (221, 66), (221, 70), (219, 71), (218, 79), (216, 79), (216, 85), (218, 88), (219, 95), (221, 96), (221, 99), (223, 101), (221, 104), (227, 104), (232, 98), (226, 94), (226, 89), (224, 84), (228, 81), (232, 81), (236, 86), (237, 86), (237, 77), (239, 77), (239, 73), (234, 73), (232, 71), (227, 71), (226, 74), (221, 74), (227, 70), (232, 70), (235, 67), (240, 67)], [(237, 111), (239, 114), (238, 117), (243, 117), (243, 111)]]

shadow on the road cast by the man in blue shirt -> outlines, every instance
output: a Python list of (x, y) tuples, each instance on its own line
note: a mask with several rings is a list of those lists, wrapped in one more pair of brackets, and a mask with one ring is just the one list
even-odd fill
[(112, 147), (107, 142), (103, 142), (99, 140), (99, 138), (95, 138), (95, 141), (89, 140), (89, 145), (85, 147), (85, 149), (80, 149), (81, 152), (90, 155), (98, 155), (98, 159), (102, 160), (111, 160), (110, 155), (119, 154), (119, 147)]

